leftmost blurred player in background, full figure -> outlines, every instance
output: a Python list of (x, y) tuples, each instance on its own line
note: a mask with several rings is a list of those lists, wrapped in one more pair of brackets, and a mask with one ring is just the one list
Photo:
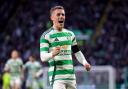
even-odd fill
[(10, 73), (11, 89), (21, 89), (23, 62), (19, 57), (19, 52), (17, 50), (11, 52), (11, 58), (6, 62), (4, 70), (9, 71)]

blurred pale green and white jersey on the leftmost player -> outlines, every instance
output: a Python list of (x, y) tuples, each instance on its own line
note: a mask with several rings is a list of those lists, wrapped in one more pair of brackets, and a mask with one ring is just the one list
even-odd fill
[(23, 62), (20, 58), (17, 58), (15, 60), (9, 59), (5, 64), (5, 69), (9, 69), (11, 77), (20, 77), (22, 66)]

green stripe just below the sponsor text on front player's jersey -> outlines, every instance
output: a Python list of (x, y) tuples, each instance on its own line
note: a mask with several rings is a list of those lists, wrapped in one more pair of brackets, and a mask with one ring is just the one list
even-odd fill
[[(73, 64), (72, 60), (58, 60), (55, 61), (56, 65), (70, 65)], [(49, 62), (50, 66), (54, 66), (54, 61)]]

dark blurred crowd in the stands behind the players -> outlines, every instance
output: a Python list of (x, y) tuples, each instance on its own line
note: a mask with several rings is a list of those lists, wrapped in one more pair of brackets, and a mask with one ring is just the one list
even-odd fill
[[(9, 5), (10, 2), (4, 3), (0, 11), (6, 9), (9, 12), (13, 5)], [(81, 36), (77, 39), (78, 43), (92, 65), (112, 65), (117, 69), (127, 67), (127, 0), (21, 0), (19, 3), (21, 4), (18, 4), (15, 13), (0, 32), (0, 66), (4, 66), (12, 49), (20, 51), (24, 62), (31, 53), (40, 59), (40, 36), (52, 25), (49, 10), (52, 6), (62, 5), (66, 11), (65, 27), (74, 31), (76, 36)], [(107, 15), (104, 16), (106, 8)], [(7, 18), (8, 13), (3, 15)], [(103, 24), (100, 23), (100, 34), (94, 40), (93, 37), (99, 31), (96, 29), (97, 24), (103, 18), (106, 20)], [(84, 36), (88, 38), (84, 39)], [(74, 64), (79, 65), (76, 61)]]

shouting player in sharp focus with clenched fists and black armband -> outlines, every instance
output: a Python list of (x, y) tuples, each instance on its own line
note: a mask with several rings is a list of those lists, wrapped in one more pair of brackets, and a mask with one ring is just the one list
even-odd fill
[(53, 89), (76, 89), (72, 52), (87, 71), (91, 65), (77, 46), (75, 35), (64, 28), (65, 10), (55, 6), (50, 10), (53, 26), (40, 38), (41, 60), (49, 63), (49, 80)]

